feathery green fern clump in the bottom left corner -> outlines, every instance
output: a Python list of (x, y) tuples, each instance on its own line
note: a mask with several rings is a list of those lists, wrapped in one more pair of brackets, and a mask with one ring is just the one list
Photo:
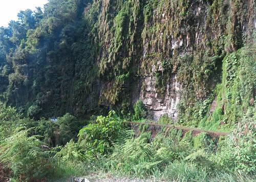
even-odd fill
[(0, 159), (20, 180), (41, 179), (54, 173), (53, 161), (38, 136), (29, 136), (29, 130), (17, 128), (15, 133), (1, 141)]

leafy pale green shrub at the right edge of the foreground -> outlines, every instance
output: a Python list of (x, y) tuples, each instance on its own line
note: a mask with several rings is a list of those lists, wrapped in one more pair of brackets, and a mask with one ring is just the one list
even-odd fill
[(221, 143), (215, 160), (222, 168), (245, 173), (256, 172), (255, 119), (255, 108), (249, 109), (237, 124), (237, 129)]

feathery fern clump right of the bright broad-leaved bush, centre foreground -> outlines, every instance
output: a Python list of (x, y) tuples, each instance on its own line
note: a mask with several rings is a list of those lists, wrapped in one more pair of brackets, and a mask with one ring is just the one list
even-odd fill
[(142, 177), (150, 174), (160, 161), (153, 161), (154, 150), (148, 144), (151, 133), (144, 132), (138, 138), (127, 138), (124, 143), (115, 145), (105, 167)]

